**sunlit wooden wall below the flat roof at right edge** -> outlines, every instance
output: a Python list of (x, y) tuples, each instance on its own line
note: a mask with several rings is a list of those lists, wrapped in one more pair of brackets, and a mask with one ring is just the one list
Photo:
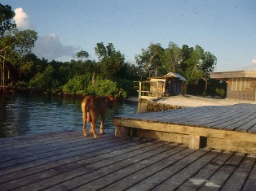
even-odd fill
[(227, 98), (256, 101), (255, 78), (229, 78), (227, 80)]

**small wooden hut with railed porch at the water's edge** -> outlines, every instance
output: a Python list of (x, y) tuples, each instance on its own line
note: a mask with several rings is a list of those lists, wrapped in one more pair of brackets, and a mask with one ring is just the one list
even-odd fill
[(139, 98), (178, 95), (182, 92), (183, 82), (187, 81), (183, 76), (174, 72), (148, 79), (148, 81), (139, 82)]

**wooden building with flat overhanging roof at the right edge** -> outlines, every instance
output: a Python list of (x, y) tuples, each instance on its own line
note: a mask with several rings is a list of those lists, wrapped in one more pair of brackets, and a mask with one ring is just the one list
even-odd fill
[(211, 72), (210, 78), (227, 81), (227, 98), (256, 101), (256, 69)]

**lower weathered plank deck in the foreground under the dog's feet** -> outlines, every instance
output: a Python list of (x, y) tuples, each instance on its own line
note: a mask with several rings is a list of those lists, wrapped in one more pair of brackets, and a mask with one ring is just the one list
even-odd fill
[(256, 158), (170, 141), (81, 130), (1, 138), (0, 147), (0, 190), (256, 188)]

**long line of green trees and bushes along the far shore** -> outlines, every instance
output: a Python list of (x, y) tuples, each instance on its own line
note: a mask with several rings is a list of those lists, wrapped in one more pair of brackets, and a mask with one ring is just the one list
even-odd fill
[[(117, 51), (113, 43), (95, 46), (98, 61), (90, 60), (88, 52), (77, 52), (78, 60), (58, 62), (38, 57), (32, 53), (38, 33), (33, 30), (16, 29), (12, 19), (15, 16), (10, 6), (0, 3), (0, 87), (9, 85), (65, 94), (110, 94), (116, 97), (135, 95), (134, 81), (146, 80), (152, 76), (163, 76), (176, 72), (188, 80), (188, 93), (196, 89), (203, 94), (220, 94), (219, 83), (210, 80), (217, 59), (201, 46), (181, 48), (170, 41), (167, 48), (150, 43), (141, 54), (135, 55), (135, 64), (127, 63), (125, 55)], [(210, 86), (210, 87), (209, 87)], [(208, 90), (208, 91), (207, 91)], [(217, 92), (216, 92), (217, 91)]]

